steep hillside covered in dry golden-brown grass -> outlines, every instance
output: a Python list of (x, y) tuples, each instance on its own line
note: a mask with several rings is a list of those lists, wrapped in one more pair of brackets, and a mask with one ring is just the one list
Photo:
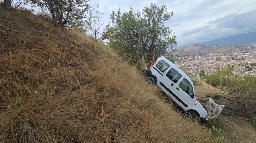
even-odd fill
[(0, 142), (205, 142), (134, 67), (85, 35), (0, 9)]

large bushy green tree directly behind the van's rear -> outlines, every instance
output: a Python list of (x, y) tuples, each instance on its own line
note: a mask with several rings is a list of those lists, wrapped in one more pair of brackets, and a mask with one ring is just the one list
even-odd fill
[(129, 12), (112, 12), (113, 27), (108, 37), (111, 47), (116, 49), (128, 62), (137, 68), (149, 67), (158, 57), (167, 54), (177, 45), (176, 36), (165, 26), (173, 12), (168, 12), (166, 5), (145, 6), (143, 12), (130, 7)]

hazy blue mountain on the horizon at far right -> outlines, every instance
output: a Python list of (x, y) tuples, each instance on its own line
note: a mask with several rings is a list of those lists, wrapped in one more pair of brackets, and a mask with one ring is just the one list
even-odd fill
[(199, 44), (199, 45), (213, 44), (213, 45), (220, 45), (220, 46), (225, 46), (225, 45), (244, 46), (244, 45), (251, 45), (253, 43), (256, 43), (256, 31), (228, 36), (225, 38), (215, 39), (211, 41), (194, 43), (194, 44)]

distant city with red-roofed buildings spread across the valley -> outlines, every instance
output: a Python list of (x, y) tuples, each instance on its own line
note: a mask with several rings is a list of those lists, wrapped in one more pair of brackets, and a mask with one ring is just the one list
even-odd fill
[(207, 48), (206, 46), (192, 45), (177, 48), (173, 52), (175, 64), (178, 67), (183, 67), (186, 73), (190, 73), (195, 77), (198, 77), (198, 72), (202, 68), (206, 69), (208, 74), (211, 74), (225, 67), (233, 67), (234, 73), (241, 77), (256, 75), (255, 45), (208, 45)]

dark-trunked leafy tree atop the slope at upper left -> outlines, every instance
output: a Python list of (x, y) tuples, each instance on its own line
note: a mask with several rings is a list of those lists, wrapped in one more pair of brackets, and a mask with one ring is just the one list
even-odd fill
[(89, 0), (26, 0), (51, 15), (56, 26), (81, 26), (89, 9)]

